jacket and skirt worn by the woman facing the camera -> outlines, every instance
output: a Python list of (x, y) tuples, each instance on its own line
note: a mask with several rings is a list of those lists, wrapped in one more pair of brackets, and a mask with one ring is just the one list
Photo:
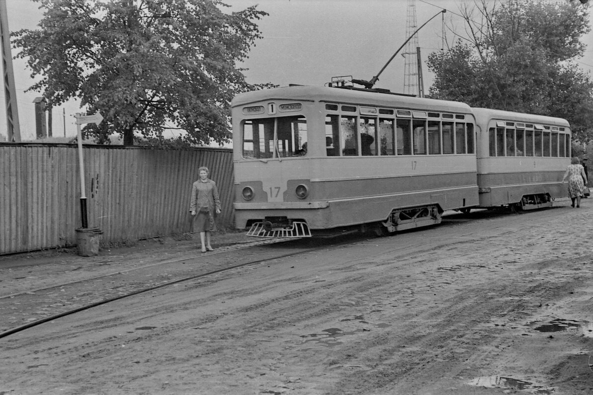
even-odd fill
[(193, 223), (194, 232), (216, 230), (216, 210), (221, 209), (221, 200), (218, 197), (216, 183), (212, 180), (197, 180), (192, 186), (192, 201), (189, 211), (196, 212)]

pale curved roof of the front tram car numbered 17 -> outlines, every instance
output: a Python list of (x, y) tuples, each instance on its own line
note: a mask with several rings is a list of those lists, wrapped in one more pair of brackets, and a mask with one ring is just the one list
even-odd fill
[(461, 113), (471, 112), (470, 106), (459, 101), (420, 98), (366, 90), (317, 87), (313, 85), (296, 85), (240, 93), (232, 100), (231, 107), (246, 106), (247, 104), (264, 100), (333, 101), (366, 106), (417, 108)]

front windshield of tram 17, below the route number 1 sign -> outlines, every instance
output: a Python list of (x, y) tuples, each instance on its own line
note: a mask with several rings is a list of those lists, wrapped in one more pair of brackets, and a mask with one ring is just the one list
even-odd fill
[(288, 158), (307, 155), (304, 116), (247, 119), (243, 122), (244, 158)]

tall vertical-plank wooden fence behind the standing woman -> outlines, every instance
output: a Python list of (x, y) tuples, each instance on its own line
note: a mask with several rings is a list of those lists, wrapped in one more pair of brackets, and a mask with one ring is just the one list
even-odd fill
[[(104, 242), (192, 231), (189, 201), (197, 168), (210, 169), (231, 227), (232, 150), (85, 145), (88, 226)], [(75, 144), (0, 143), (0, 254), (76, 244), (81, 227)]]

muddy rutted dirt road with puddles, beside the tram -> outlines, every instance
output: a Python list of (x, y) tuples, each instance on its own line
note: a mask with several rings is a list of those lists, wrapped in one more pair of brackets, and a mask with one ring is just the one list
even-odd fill
[(5, 337), (0, 394), (593, 393), (593, 200), (469, 216)]

